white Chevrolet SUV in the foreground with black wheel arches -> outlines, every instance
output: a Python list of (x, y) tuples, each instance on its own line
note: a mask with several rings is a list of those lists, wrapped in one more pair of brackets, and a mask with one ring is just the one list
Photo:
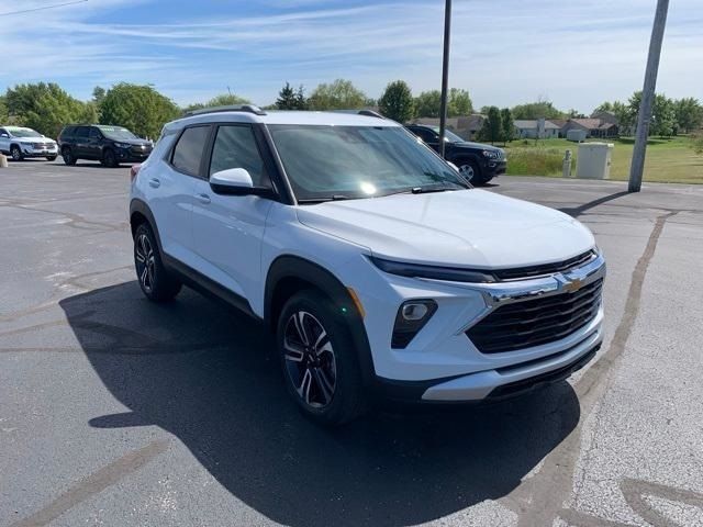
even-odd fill
[(472, 189), (399, 124), (217, 109), (133, 170), (144, 294), (181, 283), (276, 333), (290, 394), (338, 424), (376, 397), (494, 400), (600, 347), (605, 262), (558, 211)]

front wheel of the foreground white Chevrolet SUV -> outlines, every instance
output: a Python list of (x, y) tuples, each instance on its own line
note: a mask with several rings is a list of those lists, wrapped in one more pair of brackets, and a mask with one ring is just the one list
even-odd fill
[(336, 426), (364, 413), (349, 327), (330, 299), (314, 290), (291, 296), (278, 319), (276, 341), (286, 388), (306, 417)]

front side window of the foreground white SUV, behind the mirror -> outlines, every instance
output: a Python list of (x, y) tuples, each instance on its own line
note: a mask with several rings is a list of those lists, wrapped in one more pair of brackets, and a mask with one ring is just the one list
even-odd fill
[(212, 149), (210, 175), (228, 168), (244, 168), (255, 187), (270, 187), (264, 159), (250, 126), (220, 126)]

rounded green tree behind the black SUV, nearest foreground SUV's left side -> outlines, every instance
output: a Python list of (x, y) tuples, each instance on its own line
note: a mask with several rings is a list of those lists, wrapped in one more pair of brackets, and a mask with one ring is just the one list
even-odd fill
[(125, 126), (142, 137), (158, 137), (168, 121), (180, 111), (152, 86), (120, 82), (113, 86), (100, 105), (101, 124)]

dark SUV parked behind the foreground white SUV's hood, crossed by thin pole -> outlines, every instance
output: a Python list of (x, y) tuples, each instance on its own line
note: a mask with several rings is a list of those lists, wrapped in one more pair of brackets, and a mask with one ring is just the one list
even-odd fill
[[(439, 152), (439, 127), (425, 124), (409, 124), (408, 130)], [(505, 150), (481, 143), (470, 143), (450, 131), (445, 132), (444, 157), (459, 167), (471, 184), (484, 184), (501, 173), (507, 166)]]

